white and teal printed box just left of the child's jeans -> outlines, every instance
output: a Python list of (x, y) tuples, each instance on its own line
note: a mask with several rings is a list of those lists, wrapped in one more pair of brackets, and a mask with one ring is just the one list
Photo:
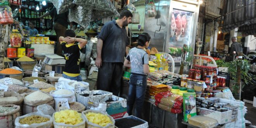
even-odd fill
[(112, 95), (112, 102), (107, 102), (106, 112), (114, 119), (128, 116), (126, 99)]

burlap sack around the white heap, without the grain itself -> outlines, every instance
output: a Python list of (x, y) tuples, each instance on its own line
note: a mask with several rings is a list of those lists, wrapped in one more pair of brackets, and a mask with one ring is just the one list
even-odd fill
[[(23, 97), (26, 97), (27, 95), (29, 95), (31, 93), (26, 93)], [(47, 95), (49, 95), (48, 93), (45, 93)], [(35, 100), (34, 102), (28, 101), (24, 98), (24, 102), (22, 105), (22, 114), (29, 114), (31, 112), (37, 112), (37, 106), (40, 106), (42, 104), (48, 104), (49, 106), (54, 107), (54, 99), (51, 95), (49, 95), (50, 98), (47, 98), (45, 100)]]

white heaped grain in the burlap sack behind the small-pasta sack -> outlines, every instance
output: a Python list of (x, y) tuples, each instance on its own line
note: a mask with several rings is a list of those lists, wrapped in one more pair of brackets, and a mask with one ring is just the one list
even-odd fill
[(25, 97), (26, 100), (31, 101), (31, 102), (33, 102), (35, 100), (46, 100), (48, 98), (50, 98), (49, 95), (47, 95), (43, 92), (40, 92), (40, 91), (33, 92)]

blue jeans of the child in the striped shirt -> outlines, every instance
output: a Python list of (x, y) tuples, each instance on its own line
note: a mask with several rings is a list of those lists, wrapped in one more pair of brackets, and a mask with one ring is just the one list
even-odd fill
[(135, 105), (135, 116), (142, 118), (142, 106), (144, 103), (145, 91), (147, 87), (147, 76), (140, 76), (131, 74), (129, 83), (129, 93), (127, 100), (127, 112), (129, 115), (132, 114), (134, 103)]

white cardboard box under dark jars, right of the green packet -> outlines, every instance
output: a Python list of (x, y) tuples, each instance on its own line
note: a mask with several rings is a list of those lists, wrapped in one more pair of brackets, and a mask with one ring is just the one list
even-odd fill
[(225, 123), (231, 122), (231, 117), (232, 117), (231, 110), (228, 110), (226, 112), (218, 112), (210, 109), (204, 109), (201, 107), (197, 107), (196, 109), (197, 109), (197, 115), (208, 116), (209, 118), (216, 119), (218, 121), (218, 124), (225, 124)]

